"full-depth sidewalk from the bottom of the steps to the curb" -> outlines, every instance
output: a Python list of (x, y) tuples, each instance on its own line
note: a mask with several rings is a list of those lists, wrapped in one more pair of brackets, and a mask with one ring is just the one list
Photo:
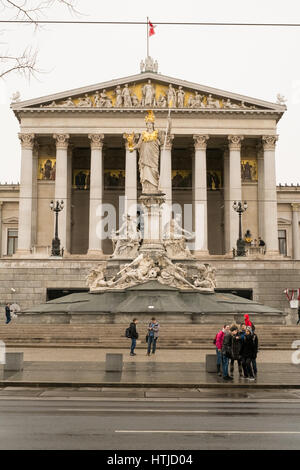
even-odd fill
[[(16, 348), (9, 349), (13, 350)], [(236, 370), (230, 383), (205, 371), (205, 351), (158, 351), (148, 357), (145, 351), (137, 350), (137, 356), (130, 357), (128, 351), (120, 350), (124, 355), (120, 373), (105, 371), (105, 352), (101, 350), (83, 350), (81, 355), (78, 350), (24, 351), (24, 370), (5, 372), (0, 386), (300, 389), (300, 365), (291, 363), (291, 351), (278, 351), (281, 362), (276, 351), (273, 362), (272, 351), (260, 353), (257, 380), (239, 378)]]

